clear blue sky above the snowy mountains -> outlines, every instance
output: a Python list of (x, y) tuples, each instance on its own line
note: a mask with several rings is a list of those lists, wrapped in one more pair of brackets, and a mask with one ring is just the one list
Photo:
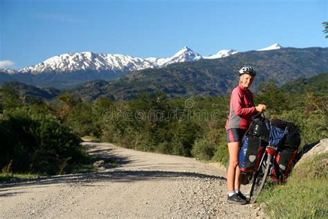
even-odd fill
[(164, 58), (183, 46), (201, 55), (327, 47), (327, 2), (0, 0), (0, 67), (83, 51)]

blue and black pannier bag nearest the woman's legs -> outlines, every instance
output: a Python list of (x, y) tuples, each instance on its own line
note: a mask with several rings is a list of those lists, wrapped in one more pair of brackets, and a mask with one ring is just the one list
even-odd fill
[(242, 172), (255, 172), (265, 149), (261, 144), (262, 140), (256, 136), (248, 136), (244, 139), (238, 156), (239, 168)]

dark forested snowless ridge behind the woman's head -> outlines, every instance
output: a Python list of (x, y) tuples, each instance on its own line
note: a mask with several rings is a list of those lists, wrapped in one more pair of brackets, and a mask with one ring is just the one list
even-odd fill
[[(104, 95), (110, 98), (136, 98), (139, 91), (164, 91), (169, 98), (193, 96), (220, 96), (230, 94), (238, 82), (239, 68), (255, 67), (257, 77), (252, 90), (259, 82), (273, 78), (278, 86), (296, 78), (309, 78), (328, 71), (328, 48), (284, 48), (273, 51), (237, 53), (220, 60), (181, 62), (161, 69), (131, 71), (122, 78), (93, 87), (86, 82), (73, 93), (84, 100)], [(101, 92), (100, 92), (101, 91)], [(99, 93), (98, 93), (99, 92)]]

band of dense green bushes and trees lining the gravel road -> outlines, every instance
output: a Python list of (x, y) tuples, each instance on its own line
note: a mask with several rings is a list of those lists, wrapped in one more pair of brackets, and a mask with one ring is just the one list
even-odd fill
[[(278, 89), (273, 80), (264, 82), (255, 94), (255, 103), (267, 105), (268, 119), (276, 117), (298, 125), (302, 146), (313, 143), (328, 137), (327, 84), (322, 84), (322, 80), (327, 80), (327, 73), (307, 82), (285, 85), (284, 89)], [(92, 162), (80, 146), (82, 137), (134, 150), (226, 164), (229, 98), (168, 99), (157, 91), (140, 92), (134, 100), (114, 101), (100, 96), (93, 102), (84, 102), (65, 93), (48, 101), (21, 95), (3, 85), (0, 170), (39, 175), (73, 173), (72, 166), (83, 167)]]

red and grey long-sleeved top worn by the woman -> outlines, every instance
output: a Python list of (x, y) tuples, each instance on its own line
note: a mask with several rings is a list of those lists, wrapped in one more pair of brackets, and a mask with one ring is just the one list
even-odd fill
[(247, 129), (254, 114), (257, 114), (257, 111), (252, 92), (242, 85), (235, 87), (230, 98), (230, 114), (226, 122), (226, 130)]

